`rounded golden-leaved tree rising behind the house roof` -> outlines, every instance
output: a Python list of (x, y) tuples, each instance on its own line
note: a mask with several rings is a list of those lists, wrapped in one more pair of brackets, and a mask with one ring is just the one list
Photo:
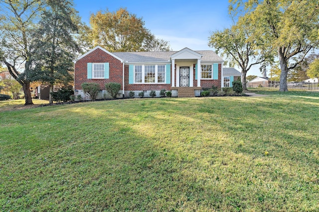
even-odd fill
[(91, 39), (110, 52), (168, 51), (167, 42), (156, 37), (144, 27), (142, 18), (126, 8), (116, 12), (98, 11), (90, 17)]

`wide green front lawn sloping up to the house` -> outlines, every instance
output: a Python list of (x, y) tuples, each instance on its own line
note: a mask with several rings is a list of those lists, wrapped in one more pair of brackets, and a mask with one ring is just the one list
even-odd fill
[(0, 211), (319, 211), (319, 97), (0, 112)]

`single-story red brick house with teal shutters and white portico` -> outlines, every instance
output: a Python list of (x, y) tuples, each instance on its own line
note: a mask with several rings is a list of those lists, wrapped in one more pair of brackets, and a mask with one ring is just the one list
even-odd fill
[[(81, 84), (95, 82), (102, 90), (98, 98), (103, 98), (105, 83), (118, 82), (118, 97), (130, 91), (136, 96), (143, 91), (147, 97), (151, 90), (159, 96), (161, 89), (171, 90), (173, 97), (199, 96), (203, 87), (224, 87), (223, 62), (213, 51), (110, 53), (97, 46), (74, 61), (75, 94), (88, 99)], [(236, 74), (225, 77), (231, 81)]]

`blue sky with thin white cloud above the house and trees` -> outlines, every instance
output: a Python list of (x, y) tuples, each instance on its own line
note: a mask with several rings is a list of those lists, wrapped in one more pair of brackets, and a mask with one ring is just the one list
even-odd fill
[[(231, 25), (228, 0), (74, 0), (74, 4), (87, 24), (91, 13), (126, 7), (130, 13), (142, 17), (145, 27), (168, 41), (174, 51), (185, 47), (195, 51), (213, 50), (207, 45), (211, 32)], [(261, 75), (258, 68), (248, 75)]]

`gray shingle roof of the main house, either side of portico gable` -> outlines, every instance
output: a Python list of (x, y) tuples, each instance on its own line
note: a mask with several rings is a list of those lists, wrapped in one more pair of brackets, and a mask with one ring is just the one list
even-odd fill
[[(201, 62), (223, 62), (223, 60), (213, 51), (195, 51), (202, 55)], [(177, 51), (169, 52), (115, 52), (115, 56), (128, 63), (152, 63), (152, 62), (170, 62), (170, 56)]]

